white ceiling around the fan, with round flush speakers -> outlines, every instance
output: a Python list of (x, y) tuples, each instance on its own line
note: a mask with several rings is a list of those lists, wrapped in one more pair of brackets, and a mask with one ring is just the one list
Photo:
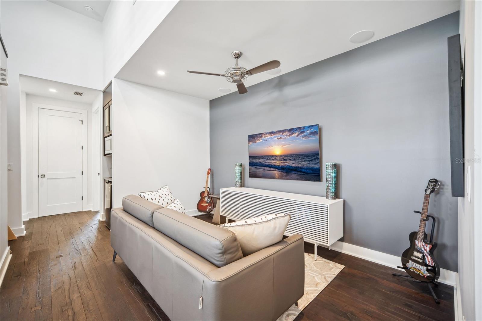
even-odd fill
[(458, 9), (459, 1), (445, 0), (180, 1), (116, 77), (213, 99), (235, 84), (186, 70), (224, 73), (234, 50), (248, 69), (281, 61), (280, 74), (250, 76), (248, 87), (365, 44), (348, 41), (360, 30), (375, 31), (371, 42)]

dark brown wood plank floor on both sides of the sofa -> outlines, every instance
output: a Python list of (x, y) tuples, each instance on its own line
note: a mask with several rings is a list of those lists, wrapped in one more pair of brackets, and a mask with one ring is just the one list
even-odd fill
[[(208, 217), (199, 217), (209, 221)], [(113, 250), (107, 227), (92, 212), (25, 222), (9, 241), (13, 256), (0, 288), (0, 319), (169, 320)], [(313, 245), (306, 243), (306, 252)], [(296, 320), (454, 320), (452, 287), (435, 289), (391, 275), (392, 268), (318, 248), (346, 267)]]

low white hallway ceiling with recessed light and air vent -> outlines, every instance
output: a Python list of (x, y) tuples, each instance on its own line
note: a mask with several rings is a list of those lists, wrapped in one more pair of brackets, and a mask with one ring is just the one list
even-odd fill
[[(51, 88), (55, 89), (57, 92), (53, 93), (49, 91), (49, 89)], [(92, 104), (94, 102), (94, 99), (102, 93), (100, 90), (92, 88), (74, 86), (64, 82), (46, 80), (24, 75), (20, 75), (20, 90), (22, 92), (26, 92), (27, 94), (85, 104)], [(85, 94), (77, 96), (73, 94), (74, 91)]]

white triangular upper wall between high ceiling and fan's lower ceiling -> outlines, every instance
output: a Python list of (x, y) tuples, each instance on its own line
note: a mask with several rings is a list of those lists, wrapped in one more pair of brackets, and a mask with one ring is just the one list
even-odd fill
[(104, 34), (104, 78), (107, 86), (139, 49), (178, 0), (111, 1), (102, 22)]

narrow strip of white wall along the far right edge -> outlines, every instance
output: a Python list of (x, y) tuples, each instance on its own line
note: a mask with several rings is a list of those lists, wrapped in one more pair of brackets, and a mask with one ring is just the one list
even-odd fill
[[(459, 198), (458, 206), (458, 273), (462, 314), (466, 320), (482, 320), (481, 23), (482, 3), (480, 1), (461, 1), (460, 40), (462, 56), (465, 54), (464, 159), (466, 160), (466, 197)], [(470, 196), (468, 196), (468, 193)]]

